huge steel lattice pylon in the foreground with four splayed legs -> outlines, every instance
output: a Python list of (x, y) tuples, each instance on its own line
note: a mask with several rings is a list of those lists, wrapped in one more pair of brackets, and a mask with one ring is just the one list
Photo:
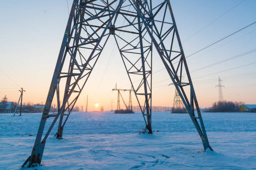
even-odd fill
[[(124, 21), (124, 22), (122, 22)], [(123, 33), (120, 36), (120, 32)], [(138, 105), (151, 128), (152, 50), (158, 54), (199, 133), (204, 149), (210, 148), (195, 90), (187, 67), (169, 0), (74, 0), (64, 32), (51, 86), (31, 156), (24, 165), (41, 163), (46, 139), (59, 118), (57, 138), (110, 36), (128, 73)], [(156, 56), (156, 54), (154, 56)], [(187, 82), (181, 80), (182, 73)], [(140, 78), (140, 81), (137, 81)], [(60, 84), (64, 96), (60, 103)], [(185, 90), (187, 88), (188, 90)], [(58, 113), (49, 115), (56, 92)], [(189, 93), (190, 92), (190, 93)], [(62, 94), (62, 93), (61, 93)], [(197, 115), (194, 114), (194, 103)], [(64, 114), (65, 112), (68, 112)], [(64, 118), (64, 116), (66, 116)], [(47, 117), (54, 117), (45, 130)], [(64, 120), (64, 122), (63, 122)]]

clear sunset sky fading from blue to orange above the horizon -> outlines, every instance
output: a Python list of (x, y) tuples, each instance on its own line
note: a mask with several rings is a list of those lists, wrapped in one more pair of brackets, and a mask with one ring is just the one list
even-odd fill
[[(170, 2), (186, 56), (256, 21), (255, 0)], [(66, 0), (0, 2), (1, 98), (7, 95), (8, 100), (17, 101), (18, 90), (23, 87), (25, 103), (45, 103), (71, 4), (71, 0), (68, 6)], [(113, 49), (114, 43), (113, 37), (110, 38), (77, 105), (85, 106), (88, 95), (89, 110), (95, 109), (95, 103), (109, 110), (111, 100), (115, 109), (117, 91), (112, 91), (115, 83), (118, 88), (131, 88), (117, 47)], [(225, 86), (225, 100), (256, 104), (256, 52), (196, 71), (254, 49), (256, 24), (187, 59), (200, 107), (210, 107), (218, 100), (215, 85), (218, 85), (219, 76)], [(112, 51), (114, 55), (110, 56)], [(154, 55), (152, 105), (172, 106), (174, 87), (168, 86), (171, 80), (166, 70), (156, 72), (164, 66), (159, 62), (154, 64), (154, 60), (160, 60), (157, 54)], [(106, 67), (109, 59), (110, 65)], [(122, 95), (128, 102), (128, 93)], [(134, 95), (133, 105), (138, 105)]]

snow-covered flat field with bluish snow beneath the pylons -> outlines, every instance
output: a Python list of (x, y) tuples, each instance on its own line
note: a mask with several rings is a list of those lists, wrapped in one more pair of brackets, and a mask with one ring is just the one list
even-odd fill
[[(51, 131), (37, 169), (256, 169), (255, 113), (202, 113), (214, 150), (205, 153), (188, 114), (152, 115), (150, 135), (138, 133), (145, 126), (141, 113), (74, 112), (63, 140), (54, 137), (56, 125)], [(40, 113), (0, 114), (0, 170), (20, 169), (31, 154), (40, 119)]]

